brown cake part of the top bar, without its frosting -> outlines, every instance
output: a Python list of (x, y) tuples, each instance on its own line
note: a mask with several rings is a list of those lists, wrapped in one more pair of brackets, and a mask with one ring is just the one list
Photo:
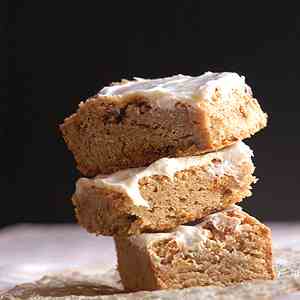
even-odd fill
[(149, 165), (162, 157), (199, 155), (250, 137), (266, 126), (256, 99), (234, 94), (198, 105), (145, 96), (97, 95), (60, 125), (78, 169), (86, 176)]

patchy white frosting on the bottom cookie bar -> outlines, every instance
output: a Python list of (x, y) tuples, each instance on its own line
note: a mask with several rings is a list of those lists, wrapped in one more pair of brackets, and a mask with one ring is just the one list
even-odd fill
[[(211, 214), (201, 220), (197, 225), (181, 225), (171, 232), (165, 233), (143, 233), (136, 236), (130, 236), (129, 239), (135, 245), (141, 248), (148, 248), (152, 243), (166, 239), (174, 239), (182, 245), (182, 250), (186, 253), (189, 250), (201, 248), (211, 237), (211, 231), (204, 227), (209, 223), (219, 232), (239, 230), (242, 219), (235, 216), (228, 216), (229, 211), (241, 211), (241, 207), (233, 205), (221, 212)], [(154, 257), (155, 258), (155, 257)]]

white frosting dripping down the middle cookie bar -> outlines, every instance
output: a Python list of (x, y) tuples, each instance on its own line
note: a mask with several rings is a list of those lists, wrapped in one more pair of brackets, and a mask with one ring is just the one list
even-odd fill
[[(99, 187), (125, 193), (134, 205), (149, 208), (149, 203), (142, 197), (139, 189), (139, 180), (143, 177), (161, 175), (174, 180), (176, 172), (198, 166), (205, 166), (211, 176), (230, 174), (238, 177), (239, 165), (245, 161), (249, 162), (252, 155), (253, 152), (246, 144), (238, 142), (217, 152), (200, 156), (161, 158), (145, 168), (132, 168), (109, 176), (97, 176), (94, 183)], [(77, 182), (77, 192), (80, 192), (80, 184), (81, 180)]]

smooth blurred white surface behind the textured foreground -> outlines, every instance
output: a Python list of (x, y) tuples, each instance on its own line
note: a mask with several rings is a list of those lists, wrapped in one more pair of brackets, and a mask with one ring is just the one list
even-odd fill
[[(268, 225), (275, 249), (300, 250), (300, 223)], [(20, 224), (0, 230), (0, 290), (62, 271), (93, 275), (115, 266), (112, 238), (88, 234), (78, 225)], [(300, 294), (276, 300), (283, 299), (300, 299)]]

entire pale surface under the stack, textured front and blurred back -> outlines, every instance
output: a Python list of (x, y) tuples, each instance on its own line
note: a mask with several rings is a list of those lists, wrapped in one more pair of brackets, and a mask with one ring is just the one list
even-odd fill
[(300, 224), (270, 224), (278, 278), (227, 288), (125, 293), (112, 239), (77, 225), (0, 231), (1, 299), (300, 299)]

